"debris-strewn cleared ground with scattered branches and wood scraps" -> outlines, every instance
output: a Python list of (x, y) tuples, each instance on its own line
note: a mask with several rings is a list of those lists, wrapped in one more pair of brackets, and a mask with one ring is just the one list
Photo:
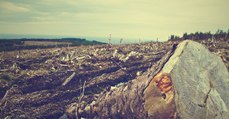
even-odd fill
[[(229, 69), (229, 41), (198, 41)], [(140, 76), (179, 41), (0, 53), (0, 117), (59, 118), (74, 102)]]

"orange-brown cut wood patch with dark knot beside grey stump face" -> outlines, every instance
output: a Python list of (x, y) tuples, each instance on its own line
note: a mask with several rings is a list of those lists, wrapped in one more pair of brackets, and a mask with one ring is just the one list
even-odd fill
[(144, 91), (145, 110), (150, 118), (176, 117), (172, 80), (168, 73), (158, 73)]

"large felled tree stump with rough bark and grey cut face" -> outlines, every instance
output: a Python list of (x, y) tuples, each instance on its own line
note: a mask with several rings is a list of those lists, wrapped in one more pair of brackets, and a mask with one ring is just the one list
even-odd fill
[(79, 104), (78, 117), (228, 118), (229, 74), (222, 59), (194, 41), (174, 49), (136, 79)]

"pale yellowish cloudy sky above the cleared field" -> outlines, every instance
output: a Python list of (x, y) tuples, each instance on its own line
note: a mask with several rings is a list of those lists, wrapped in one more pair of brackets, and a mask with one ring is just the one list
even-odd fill
[(0, 0), (0, 34), (167, 40), (229, 28), (229, 0)]

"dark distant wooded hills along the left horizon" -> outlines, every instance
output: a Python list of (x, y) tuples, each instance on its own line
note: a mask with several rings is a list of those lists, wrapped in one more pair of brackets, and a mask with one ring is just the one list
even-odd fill
[[(40, 41), (40, 42), (53, 42), (51, 45), (25, 45), (26, 41)], [(60, 42), (55, 44), (55, 42)], [(61, 42), (65, 42), (61, 44)], [(69, 44), (66, 44), (69, 43)], [(67, 47), (67, 46), (80, 46), (80, 45), (97, 45), (105, 44), (98, 41), (88, 41), (81, 38), (61, 38), (61, 39), (0, 39), (0, 51), (11, 51), (11, 50), (21, 50), (21, 49), (38, 49), (38, 48), (53, 48), (53, 47)]]

